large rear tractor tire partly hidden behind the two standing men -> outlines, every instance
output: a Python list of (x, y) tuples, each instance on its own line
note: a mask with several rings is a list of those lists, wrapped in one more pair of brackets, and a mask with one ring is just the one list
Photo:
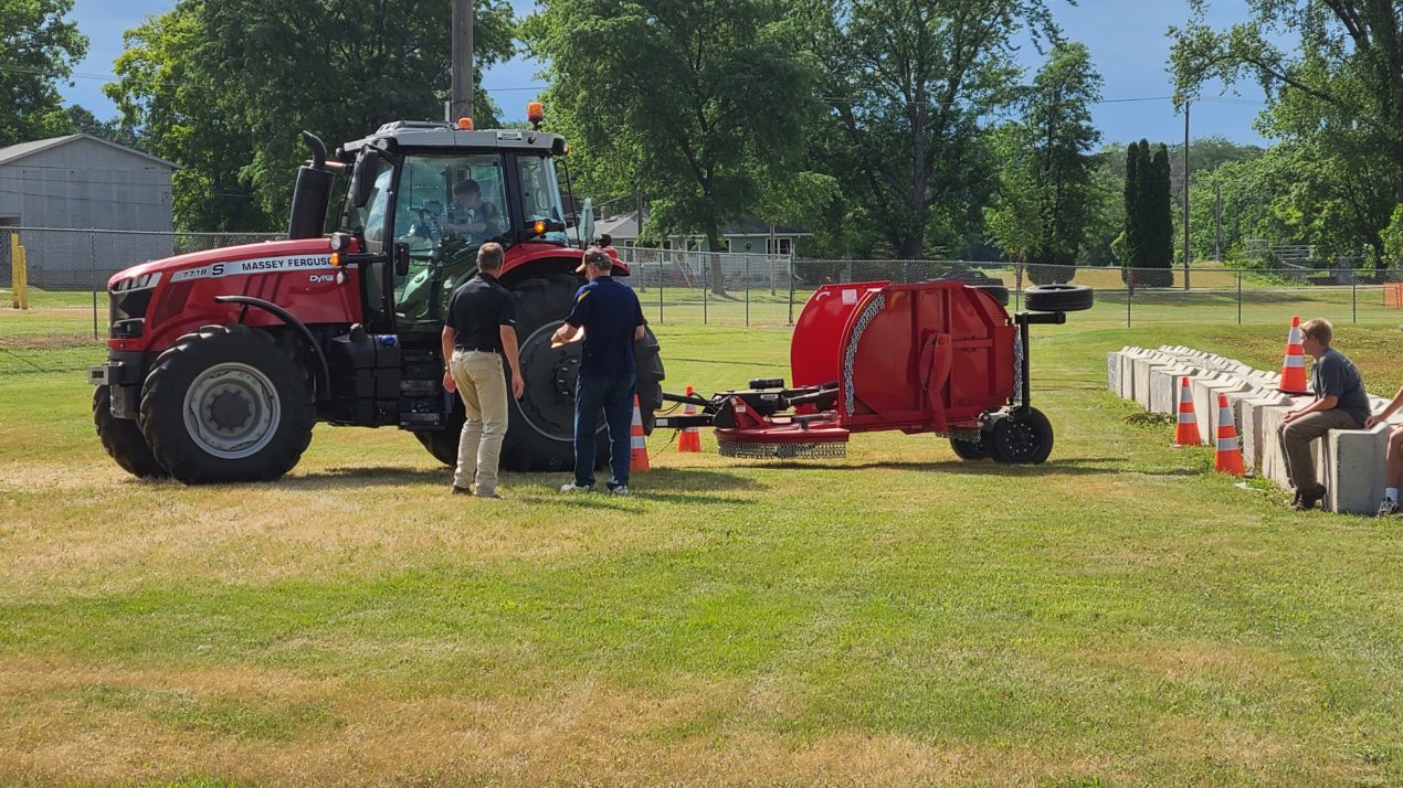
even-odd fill
[[(564, 322), (584, 278), (556, 273), (525, 279), (511, 287), (516, 300), (516, 338), (526, 393), (508, 407), (506, 439), (502, 442), (501, 468), (506, 471), (564, 473), (575, 467), (575, 379), (579, 370), (581, 344), (550, 348), (550, 337)], [(638, 411), (644, 432), (652, 432), (654, 411), (662, 407), (662, 358), (652, 330), (634, 344)], [(508, 379), (509, 380), (509, 379)], [(415, 437), (446, 466), (457, 463), (459, 430), (463, 426), (462, 401), (455, 402), (453, 418), (442, 432), (419, 432)], [(595, 468), (609, 463), (609, 440), (600, 433), (595, 442)]]

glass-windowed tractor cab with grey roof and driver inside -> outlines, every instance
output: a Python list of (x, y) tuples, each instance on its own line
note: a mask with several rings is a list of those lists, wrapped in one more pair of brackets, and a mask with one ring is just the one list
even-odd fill
[(352, 175), (338, 226), (383, 261), (365, 272), (366, 324), (442, 330), (449, 297), (488, 241), (508, 250), (504, 273), (567, 250), (553, 158), (564, 150), (563, 137), (537, 130), (405, 121), (344, 146), (338, 158)]

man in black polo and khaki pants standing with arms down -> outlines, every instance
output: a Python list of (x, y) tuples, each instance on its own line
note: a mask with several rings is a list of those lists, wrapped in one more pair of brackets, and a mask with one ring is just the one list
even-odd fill
[[(506, 436), (506, 377), (502, 356), (512, 367), (512, 395), (526, 384), (516, 359), (516, 304), (497, 283), (502, 269), (501, 244), (477, 250), (477, 276), (453, 292), (443, 320), (443, 388), (463, 397), (467, 419), (457, 443), (453, 492), (498, 498), (497, 463)], [(476, 485), (476, 487), (471, 487)]]

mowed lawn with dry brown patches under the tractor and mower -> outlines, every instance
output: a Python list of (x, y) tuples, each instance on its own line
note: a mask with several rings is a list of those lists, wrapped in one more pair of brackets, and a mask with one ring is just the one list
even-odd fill
[[(787, 373), (784, 330), (658, 334), (672, 390)], [(1403, 334), (1338, 335), (1403, 383)], [(80, 374), (6, 377), (0, 784), (1399, 784), (1403, 526), (1239, 489), (1106, 391), (1125, 344), (1282, 339), (1070, 315), (1045, 466), (658, 433), (626, 501), (464, 501), (324, 426), (276, 484), (142, 482)]]

